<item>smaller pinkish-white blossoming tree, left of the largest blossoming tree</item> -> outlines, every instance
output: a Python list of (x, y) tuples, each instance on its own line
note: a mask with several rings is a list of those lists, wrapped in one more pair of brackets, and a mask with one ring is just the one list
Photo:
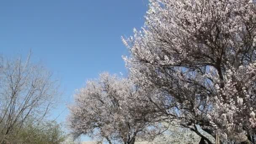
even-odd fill
[[(162, 129), (151, 125), (129, 111), (129, 97), (136, 97), (139, 89), (130, 80), (102, 73), (98, 80), (88, 81), (75, 94), (69, 107), (69, 127), (74, 136), (85, 134), (98, 140), (134, 144), (142, 136), (155, 136)], [(133, 108), (132, 108), (133, 109)]]

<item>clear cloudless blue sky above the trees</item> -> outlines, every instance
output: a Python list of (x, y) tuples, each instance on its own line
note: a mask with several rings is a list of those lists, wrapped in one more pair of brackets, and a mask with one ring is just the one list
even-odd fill
[[(121, 36), (144, 24), (147, 0), (5, 0), (0, 2), (0, 54), (40, 61), (61, 82), (64, 122), (75, 89), (100, 72), (126, 73)], [(62, 113), (61, 113), (62, 112)]]

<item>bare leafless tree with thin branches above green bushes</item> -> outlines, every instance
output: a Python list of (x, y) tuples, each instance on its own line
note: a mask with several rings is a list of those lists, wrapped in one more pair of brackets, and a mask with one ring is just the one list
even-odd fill
[(56, 103), (58, 85), (51, 72), (29, 61), (0, 61), (0, 144), (24, 129), (30, 120), (37, 125)]

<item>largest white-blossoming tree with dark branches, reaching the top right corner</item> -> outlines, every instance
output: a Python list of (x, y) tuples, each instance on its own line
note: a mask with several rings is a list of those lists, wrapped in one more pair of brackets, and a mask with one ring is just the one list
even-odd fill
[(164, 93), (176, 110), (163, 116), (199, 136), (197, 125), (221, 141), (255, 143), (254, 1), (149, 1), (144, 27), (123, 38), (131, 79)]

